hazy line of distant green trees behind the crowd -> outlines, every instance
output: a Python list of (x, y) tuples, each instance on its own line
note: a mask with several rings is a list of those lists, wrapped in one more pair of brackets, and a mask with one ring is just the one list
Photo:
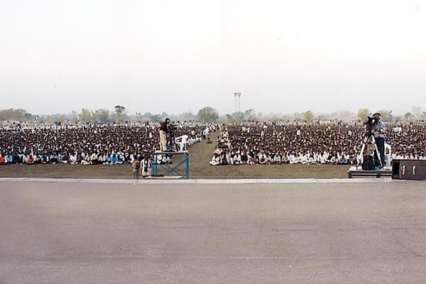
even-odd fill
[[(219, 122), (219, 123), (234, 123), (240, 121), (365, 121), (367, 116), (370, 116), (375, 111), (370, 109), (359, 109), (357, 113), (351, 111), (334, 111), (331, 114), (315, 114), (311, 110), (295, 114), (262, 114), (256, 113), (254, 109), (246, 109), (246, 111), (236, 112), (233, 114), (219, 115), (212, 107), (203, 107), (197, 114), (184, 112), (182, 114), (151, 114), (149, 112), (129, 114), (126, 107), (116, 105), (114, 109), (81, 109), (80, 112), (72, 111), (71, 114), (50, 114), (50, 115), (35, 115), (28, 113), (25, 109), (1, 109), (0, 121), (37, 121), (40, 123), (55, 124), (74, 123), (77, 121), (86, 122), (144, 122), (160, 123), (166, 117), (172, 121), (200, 121), (200, 122)], [(391, 110), (381, 109), (383, 121), (426, 121), (426, 111), (420, 106), (412, 107), (403, 115), (395, 115)]]

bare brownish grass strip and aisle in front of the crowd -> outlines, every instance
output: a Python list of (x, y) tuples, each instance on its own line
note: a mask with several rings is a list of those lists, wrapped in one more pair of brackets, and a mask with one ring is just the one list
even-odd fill
[[(209, 165), (214, 144), (190, 147), (190, 178), (346, 178), (347, 165)], [(183, 174), (182, 169), (182, 174)], [(5, 165), (1, 178), (132, 178), (131, 165)]]

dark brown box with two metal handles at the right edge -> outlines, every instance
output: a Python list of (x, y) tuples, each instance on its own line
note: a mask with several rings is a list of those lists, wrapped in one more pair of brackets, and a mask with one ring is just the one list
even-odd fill
[(392, 160), (393, 180), (426, 180), (426, 160)]

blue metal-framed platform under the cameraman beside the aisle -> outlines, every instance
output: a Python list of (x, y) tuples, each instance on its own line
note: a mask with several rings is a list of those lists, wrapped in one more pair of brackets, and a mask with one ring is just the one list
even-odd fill
[[(158, 155), (169, 155), (171, 158), (180, 156), (179, 160), (173, 160), (171, 164), (158, 163)], [(163, 178), (176, 179), (185, 177), (186, 180), (190, 178), (190, 153), (188, 151), (155, 151), (151, 154), (152, 161), (152, 176), (159, 177), (159, 168), (162, 168), (165, 172)], [(179, 168), (185, 165), (185, 175), (180, 175), (178, 172)]]

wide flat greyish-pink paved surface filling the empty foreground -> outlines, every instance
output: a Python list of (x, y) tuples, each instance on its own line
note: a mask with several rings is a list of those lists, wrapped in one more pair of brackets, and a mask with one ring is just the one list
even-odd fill
[(0, 283), (425, 283), (425, 182), (0, 182)]

